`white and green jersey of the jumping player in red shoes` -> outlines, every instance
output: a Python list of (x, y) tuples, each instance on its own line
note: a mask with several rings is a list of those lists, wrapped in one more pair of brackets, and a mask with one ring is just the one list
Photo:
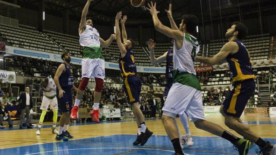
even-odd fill
[(80, 36), (80, 44), (83, 46), (82, 59), (104, 59), (100, 47), (100, 34), (96, 28), (86, 25)]

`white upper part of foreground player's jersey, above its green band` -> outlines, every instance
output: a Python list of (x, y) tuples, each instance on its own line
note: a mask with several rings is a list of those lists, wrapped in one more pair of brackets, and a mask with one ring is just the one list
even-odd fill
[(184, 33), (183, 45), (177, 50), (173, 44), (173, 70), (179, 73), (187, 72), (196, 75), (194, 69), (195, 57), (199, 52), (199, 43), (192, 35)]

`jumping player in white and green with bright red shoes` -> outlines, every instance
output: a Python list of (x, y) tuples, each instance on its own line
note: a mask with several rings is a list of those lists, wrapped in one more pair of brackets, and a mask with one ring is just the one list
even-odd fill
[(90, 3), (94, 0), (88, 0), (82, 11), (82, 18), (79, 25), (80, 44), (83, 46), (82, 54), (82, 81), (78, 87), (76, 101), (72, 108), (70, 117), (74, 120), (77, 119), (77, 111), (80, 100), (83, 96), (84, 90), (88, 85), (89, 78), (94, 78), (96, 87), (94, 90), (94, 105), (93, 110), (89, 113), (93, 121), (99, 122), (99, 103), (102, 95), (102, 88), (104, 85), (105, 70), (104, 70), (104, 57), (101, 52), (102, 47), (108, 47), (116, 38), (112, 34), (108, 40), (104, 41), (97, 31), (93, 28), (93, 22), (90, 17), (86, 17)]

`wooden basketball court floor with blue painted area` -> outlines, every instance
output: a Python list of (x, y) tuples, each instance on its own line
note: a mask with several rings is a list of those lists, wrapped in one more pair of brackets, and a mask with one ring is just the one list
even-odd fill
[[(209, 115), (206, 116), (206, 119), (238, 135), (224, 125), (222, 116)], [(276, 143), (275, 115), (245, 115), (241, 119), (259, 136), (271, 143)], [(181, 125), (179, 118), (177, 121), (178, 125)], [(0, 129), (0, 155), (171, 155), (174, 153), (173, 146), (159, 118), (146, 120), (147, 127), (154, 133), (143, 147), (132, 145), (137, 134), (137, 125), (133, 119), (100, 124), (73, 123), (69, 127), (69, 132), (74, 138), (67, 142), (57, 142), (55, 134), (51, 133), (51, 122), (44, 124), (40, 136), (35, 135), (36, 128)], [(195, 128), (191, 122), (189, 122), (189, 126), (193, 134), (194, 146), (187, 147), (185, 145), (184, 153), (186, 155), (238, 154), (230, 142)], [(182, 135), (185, 135), (182, 126), (180, 131)], [(249, 154), (256, 154), (256, 148), (256, 146), (252, 147)]]

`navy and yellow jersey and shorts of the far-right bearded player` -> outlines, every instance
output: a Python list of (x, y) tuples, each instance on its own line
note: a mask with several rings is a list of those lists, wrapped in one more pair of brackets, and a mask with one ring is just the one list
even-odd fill
[(226, 57), (233, 78), (234, 88), (223, 102), (224, 112), (228, 116), (240, 117), (248, 99), (256, 88), (256, 76), (252, 70), (251, 57), (241, 40), (234, 39), (239, 46), (235, 54)]

